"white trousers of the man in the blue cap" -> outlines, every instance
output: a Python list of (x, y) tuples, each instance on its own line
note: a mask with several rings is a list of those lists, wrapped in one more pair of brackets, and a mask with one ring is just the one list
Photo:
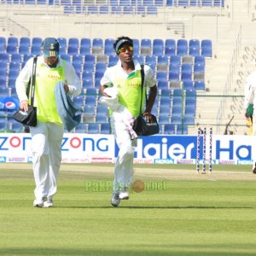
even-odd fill
[(57, 177), (61, 166), (61, 143), (64, 126), (38, 122), (30, 127), (32, 135), (32, 163), (36, 183), (36, 199), (52, 199), (57, 191)]

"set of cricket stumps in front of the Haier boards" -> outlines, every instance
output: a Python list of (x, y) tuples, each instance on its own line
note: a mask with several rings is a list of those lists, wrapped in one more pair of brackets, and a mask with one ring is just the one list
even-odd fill
[(207, 128), (209, 132), (208, 142), (208, 164), (209, 172), (212, 173), (212, 126), (197, 127), (197, 148), (196, 148), (196, 171), (200, 172), (201, 135), (202, 135), (202, 173), (207, 173)]

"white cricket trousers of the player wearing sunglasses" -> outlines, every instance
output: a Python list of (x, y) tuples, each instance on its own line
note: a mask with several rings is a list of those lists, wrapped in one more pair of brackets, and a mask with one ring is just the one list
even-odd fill
[(114, 112), (110, 116), (111, 129), (119, 147), (119, 154), (114, 166), (113, 191), (129, 189), (131, 186), (134, 150), (137, 147), (137, 139), (131, 140), (129, 129), (120, 114)]

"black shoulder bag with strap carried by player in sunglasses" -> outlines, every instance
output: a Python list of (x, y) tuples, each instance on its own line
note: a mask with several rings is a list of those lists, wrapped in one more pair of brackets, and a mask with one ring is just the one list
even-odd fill
[[(141, 97), (141, 106), (140, 106), (140, 115), (135, 120), (133, 129), (136, 131), (138, 136), (149, 136), (159, 133), (159, 125), (157, 123), (157, 119), (153, 113), (151, 113), (151, 123), (147, 122), (147, 120), (143, 117), (142, 113), (142, 103), (143, 103), (143, 84), (144, 84), (144, 66), (142, 65), (141, 69), (142, 75), (142, 97)], [(146, 91), (146, 104), (148, 104), (148, 97)]]

